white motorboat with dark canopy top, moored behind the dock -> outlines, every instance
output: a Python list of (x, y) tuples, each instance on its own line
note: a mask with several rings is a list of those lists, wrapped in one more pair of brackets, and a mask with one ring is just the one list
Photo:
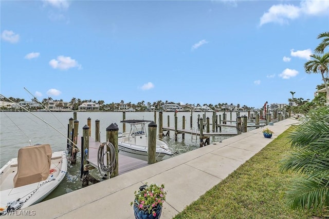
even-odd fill
[[(148, 136), (145, 124), (147, 120), (124, 120), (121, 123), (130, 125), (130, 131), (124, 132), (118, 137), (119, 153), (148, 161)], [(168, 144), (161, 140), (156, 140), (156, 161), (159, 162), (166, 155), (173, 155)]]

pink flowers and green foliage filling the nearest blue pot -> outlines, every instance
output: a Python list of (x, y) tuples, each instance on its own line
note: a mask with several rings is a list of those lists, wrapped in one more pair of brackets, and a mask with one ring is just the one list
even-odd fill
[(153, 216), (157, 215), (156, 209), (158, 205), (162, 207), (162, 203), (166, 201), (167, 192), (164, 190), (165, 185), (158, 186), (156, 184), (145, 183), (135, 191), (135, 201), (130, 205), (135, 205), (138, 209), (148, 211)]

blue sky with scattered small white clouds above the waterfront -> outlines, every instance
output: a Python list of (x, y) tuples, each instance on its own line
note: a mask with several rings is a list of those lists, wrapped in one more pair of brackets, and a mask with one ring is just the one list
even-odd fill
[(105, 103), (313, 99), (329, 1), (1, 1), (1, 94)]

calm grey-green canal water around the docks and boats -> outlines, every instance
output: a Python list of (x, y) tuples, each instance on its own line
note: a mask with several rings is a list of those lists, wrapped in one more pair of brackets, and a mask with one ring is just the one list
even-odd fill
[[(205, 112), (193, 113), (193, 128), (197, 128), (197, 115), (203, 116)], [(217, 112), (222, 115), (223, 112)], [(247, 115), (247, 112), (240, 113), (241, 116)], [(163, 112), (163, 126), (167, 126), (168, 115), (170, 116), (170, 126), (174, 126), (174, 112)], [(185, 115), (185, 127), (190, 127), (191, 112), (178, 112), (178, 127), (182, 127), (182, 116)], [(36, 117), (38, 116), (38, 117)], [(158, 123), (158, 112), (156, 114)], [(66, 150), (67, 124), (69, 118), (73, 117), (73, 112), (0, 112), (0, 165), (5, 165), (11, 158), (17, 157), (17, 152), (21, 147), (29, 145), (29, 141), (34, 144), (50, 144), (52, 151)], [(78, 112), (79, 134), (82, 134), (82, 127), (87, 124), (87, 118), (92, 121), (92, 137), (95, 138), (95, 120), (100, 121), (101, 142), (105, 142), (106, 127), (112, 123), (119, 126), (119, 132), (122, 132), (122, 112)], [(212, 121), (212, 112), (206, 112), (206, 117)], [(144, 119), (154, 120), (154, 112), (126, 112), (126, 120)], [(232, 113), (232, 120), (235, 121), (236, 114)], [(43, 121), (42, 121), (43, 120)], [(227, 113), (227, 120), (230, 120), (230, 113)], [(44, 122), (45, 121), (45, 122)], [(48, 124), (47, 124), (48, 123)], [(129, 131), (126, 125), (126, 131)], [(58, 131), (56, 131), (58, 130)], [(211, 128), (210, 128), (211, 130)], [(236, 132), (233, 128), (223, 128), (222, 132)], [(62, 134), (61, 134), (62, 133)], [(195, 136), (185, 134), (185, 140), (178, 135), (178, 140), (174, 140), (174, 134), (163, 137), (169, 146), (177, 151), (177, 155), (199, 148), (199, 140)], [(224, 140), (224, 137), (211, 137), (210, 142)], [(78, 160), (79, 160), (78, 154)], [(165, 157), (170, 158), (170, 157)], [(69, 166), (66, 178), (60, 186), (54, 190), (47, 198), (56, 197), (81, 188), (80, 181), (80, 162), (77, 165)], [(98, 175), (98, 170), (93, 170), (92, 174)]]

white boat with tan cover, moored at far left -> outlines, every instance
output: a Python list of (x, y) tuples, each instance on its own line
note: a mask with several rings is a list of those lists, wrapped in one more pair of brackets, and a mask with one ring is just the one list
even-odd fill
[(66, 170), (65, 151), (52, 153), (50, 145), (19, 149), (17, 158), (0, 169), (0, 215), (41, 202), (63, 181)]

